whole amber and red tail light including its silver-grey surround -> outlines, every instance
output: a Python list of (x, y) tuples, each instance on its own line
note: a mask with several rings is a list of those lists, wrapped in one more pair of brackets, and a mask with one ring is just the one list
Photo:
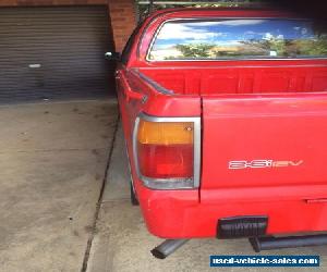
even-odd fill
[(199, 182), (199, 118), (153, 118), (135, 123), (138, 176), (154, 189), (196, 188)]

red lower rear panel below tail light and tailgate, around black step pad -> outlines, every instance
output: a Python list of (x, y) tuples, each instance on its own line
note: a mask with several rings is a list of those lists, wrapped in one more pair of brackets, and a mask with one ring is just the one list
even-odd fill
[(269, 235), (327, 230), (324, 201), (231, 198), (215, 202), (199, 200), (198, 190), (150, 190), (141, 183), (136, 187), (149, 232), (162, 238), (217, 237), (218, 220), (233, 217), (267, 217)]

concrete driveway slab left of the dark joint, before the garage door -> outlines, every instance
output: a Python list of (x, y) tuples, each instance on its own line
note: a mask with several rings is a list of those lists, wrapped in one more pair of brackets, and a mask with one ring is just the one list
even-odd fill
[(114, 100), (0, 107), (0, 271), (81, 271)]

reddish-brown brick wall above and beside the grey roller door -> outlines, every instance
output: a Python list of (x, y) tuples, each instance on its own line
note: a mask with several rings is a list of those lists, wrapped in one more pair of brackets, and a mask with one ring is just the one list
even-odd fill
[(134, 0), (0, 0), (0, 7), (108, 4), (117, 51), (121, 51), (135, 27)]

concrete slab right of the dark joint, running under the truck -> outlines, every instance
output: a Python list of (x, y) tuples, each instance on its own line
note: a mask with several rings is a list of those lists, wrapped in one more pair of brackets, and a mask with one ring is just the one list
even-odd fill
[[(247, 239), (194, 239), (166, 260), (152, 257), (149, 250), (161, 243), (152, 236), (143, 222), (140, 208), (129, 199), (129, 174), (121, 128), (118, 131), (97, 233), (93, 240), (89, 272), (198, 272), (213, 271), (210, 255), (255, 255)], [(307, 247), (263, 251), (263, 255), (319, 255), (320, 269), (327, 271), (327, 247)], [(219, 271), (295, 271), (296, 268), (233, 268)], [(311, 271), (303, 269), (303, 271)]]

